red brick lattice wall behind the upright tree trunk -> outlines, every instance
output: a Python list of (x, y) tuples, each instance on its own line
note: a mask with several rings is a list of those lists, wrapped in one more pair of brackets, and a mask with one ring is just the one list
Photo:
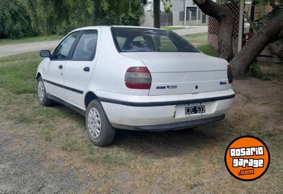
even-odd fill
[[(233, 52), (238, 52), (238, 32), (239, 32), (239, 3), (225, 3), (224, 6), (228, 7), (234, 14), (234, 30), (233, 30)], [(208, 29), (208, 43), (215, 49), (218, 49), (218, 21), (209, 17), (209, 29)]]

